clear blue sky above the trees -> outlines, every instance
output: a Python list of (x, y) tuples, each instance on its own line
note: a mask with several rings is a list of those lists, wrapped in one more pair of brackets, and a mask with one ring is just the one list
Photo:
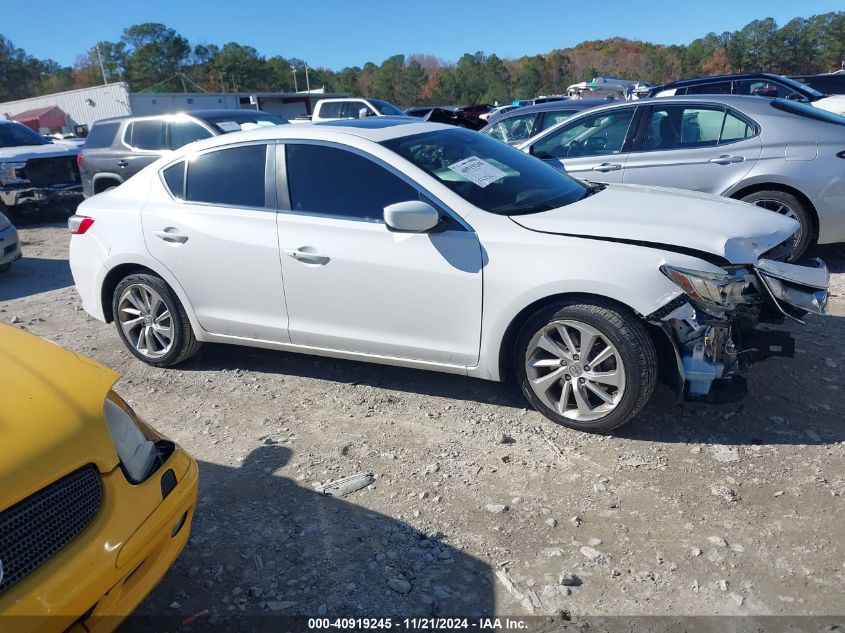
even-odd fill
[(120, 39), (127, 26), (162, 22), (192, 45), (234, 41), (267, 57), (334, 70), (397, 53), (447, 61), (475, 51), (521, 57), (614, 36), (686, 44), (755, 19), (784, 24), (845, 9), (842, 0), (39, 0), (35, 10), (10, 4), (0, 33), (63, 65), (98, 41)]

